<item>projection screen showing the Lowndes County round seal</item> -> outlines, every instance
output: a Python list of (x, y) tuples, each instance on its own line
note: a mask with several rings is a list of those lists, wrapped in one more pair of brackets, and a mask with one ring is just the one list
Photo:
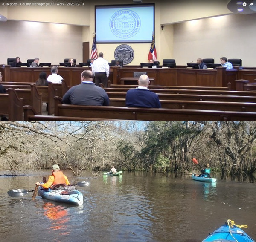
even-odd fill
[(96, 43), (151, 43), (154, 4), (95, 6)]

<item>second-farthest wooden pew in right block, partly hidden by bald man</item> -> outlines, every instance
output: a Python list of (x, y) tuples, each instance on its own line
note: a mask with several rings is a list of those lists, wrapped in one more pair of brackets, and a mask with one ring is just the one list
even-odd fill
[[(109, 98), (125, 98), (126, 92), (107, 92)], [(191, 101), (225, 101), (225, 102), (256, 102), (256, 96), (239, 95), (199, 95), (199, 94), (165, 94), (157, 93), (163, 100), (191, 100)]]

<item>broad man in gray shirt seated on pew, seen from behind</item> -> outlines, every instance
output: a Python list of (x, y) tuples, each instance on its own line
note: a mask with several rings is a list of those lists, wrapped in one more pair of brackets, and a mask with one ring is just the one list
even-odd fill
[(90, 70), (81, 73), (81, 84), (72, 86), (63, 96), (63, 104), (108, 106), (109, 98), (105, 90), (93, 83)]

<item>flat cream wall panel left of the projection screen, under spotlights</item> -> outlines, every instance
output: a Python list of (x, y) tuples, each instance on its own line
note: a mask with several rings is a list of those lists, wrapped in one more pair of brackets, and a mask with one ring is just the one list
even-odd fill
[(64, 58), (82, 62), (82, 26), (27, 21), (0, 22), (0, 64), (19, 56), (21, 62), (38, 57), (58, 64)]

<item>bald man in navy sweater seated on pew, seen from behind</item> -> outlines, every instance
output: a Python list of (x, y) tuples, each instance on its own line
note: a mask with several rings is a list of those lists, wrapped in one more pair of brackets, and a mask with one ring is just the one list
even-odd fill
[(159, 97), (154, 92), (148, 90), (149, 78), (141, 75), (138, 80), (139, 86), (128, 90), (125, 98), (126, 107), (154, 107), (161, 108)]

